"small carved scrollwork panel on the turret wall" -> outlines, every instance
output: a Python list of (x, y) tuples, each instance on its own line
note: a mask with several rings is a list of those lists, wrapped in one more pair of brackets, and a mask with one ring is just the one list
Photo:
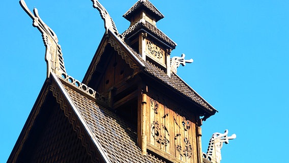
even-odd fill
[(165, 51), (150, 40), (146, 40), (146, 53), (154, 61), (165, 66)]

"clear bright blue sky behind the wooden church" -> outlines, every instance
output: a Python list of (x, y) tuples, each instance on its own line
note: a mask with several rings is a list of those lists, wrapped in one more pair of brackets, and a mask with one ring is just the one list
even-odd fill
[[(122, 15), (136, 0), (101, 0), (123, 32)], [(157, 1), (157, 26), (192, 64), (178, 74), (218, 111), (203, 124), (203, 151), (213, 132), (237, 139), (222, 163), (284, 162), (289, 119), (289, 1)], [(90, 0), (26, 0), (62, 45), (68, 74), (82, 80), (104, 33)], [(46, 77), (41, 34), (18, 1), (0, 5), (0, 162), (5, 162)]]

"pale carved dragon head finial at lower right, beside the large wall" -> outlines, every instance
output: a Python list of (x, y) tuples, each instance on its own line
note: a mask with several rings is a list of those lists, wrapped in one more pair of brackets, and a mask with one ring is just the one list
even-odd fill
[(220, 163), (221, 149), (223, 147), (223, 143), (228, 144), (229, 140), (233, 140), (236, 138), (236, 134), (232, 134), (228, 137), (228, 130), (226, 129), (224, 133), (215, 132), (210, 139), (207, 154), (203, 153), (203, 157), (209, 159), (211, 162)]

